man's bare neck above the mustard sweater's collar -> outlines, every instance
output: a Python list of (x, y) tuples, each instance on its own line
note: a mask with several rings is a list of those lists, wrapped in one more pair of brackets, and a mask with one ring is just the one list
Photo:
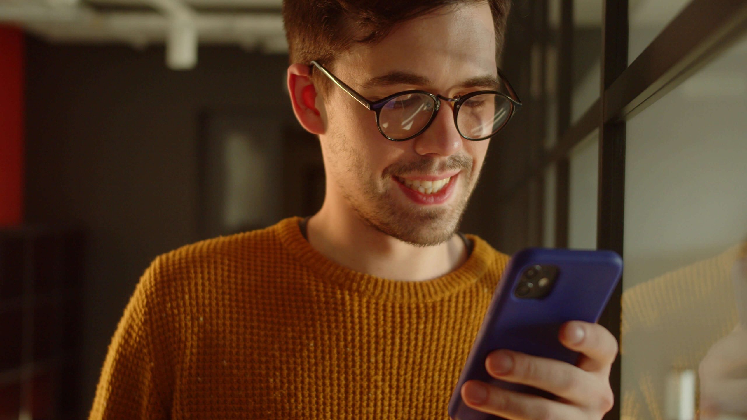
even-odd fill
[(449, 274), (469, 256), (459, 235), (444, 244), (416, 247), (379, 232), (356, 214), (322, 208), (309, 218), (306, 237), (323, 256), (361, 273), (391, 280), (423, 281)]

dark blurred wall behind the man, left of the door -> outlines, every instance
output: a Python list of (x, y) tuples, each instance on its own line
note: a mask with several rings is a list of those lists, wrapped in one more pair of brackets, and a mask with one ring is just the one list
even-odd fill
[[(140, 274), (158, 254), (205, 238), (203, 117), (258, 108), (263, 117), (294, 122), (282, 89), (285, 55), (231, 46), (199, 53), (194, 70), (175, 72), (158, 47), (27, 43), (26, 220), (72, 223), (87, 233), (84, 401)], [(282, 141), (278, 132), (255, 134)], [(268, 190), (282, 188), (264, 181)]]

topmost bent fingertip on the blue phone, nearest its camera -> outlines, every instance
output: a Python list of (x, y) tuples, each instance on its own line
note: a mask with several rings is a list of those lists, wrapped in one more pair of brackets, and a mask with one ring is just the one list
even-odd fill
[[(602, 371), (609, 368), (617, 356), (615, 336), (599, 324), (569, 321), (560, 328), (560, 342), (582, 354), (579, 367), (585, 371)], [(586, 357), (584, 357), (586, 356)]]

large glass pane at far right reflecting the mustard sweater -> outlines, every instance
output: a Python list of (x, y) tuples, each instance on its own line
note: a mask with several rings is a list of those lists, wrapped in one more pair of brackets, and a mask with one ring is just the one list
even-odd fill
[(746, 68), (747, 38), (627, 123), (623, 419), (743, 419)]

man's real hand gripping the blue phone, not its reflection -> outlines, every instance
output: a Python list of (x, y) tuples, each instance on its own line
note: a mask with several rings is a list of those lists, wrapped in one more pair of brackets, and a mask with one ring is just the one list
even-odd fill
[(510, 420), (601, 419), (615, 402), (610, 388), (615, 337), (601, 325), (570, 321), (560, 328), (560, 342), (580, 353), (577, 365), (510, 350), (495, 350), (485, 361), (492, 377), (543, 389), (557, 400), (470, 380), (462, 386), (465, 404)]

